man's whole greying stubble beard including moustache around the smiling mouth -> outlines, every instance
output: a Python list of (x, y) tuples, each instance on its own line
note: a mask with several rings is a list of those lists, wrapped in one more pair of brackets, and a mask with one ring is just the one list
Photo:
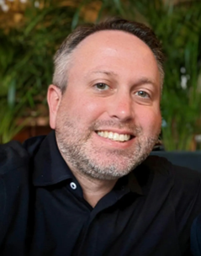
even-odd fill
[[(134, 143), (126, 149), (108, 149), (95, 146), (94, 132), (98, 127), (127, 128), (135, 134)], [(81, 132), (82, 131), (82, 132)], [(66, 116), (56, 120), (56, 141), (62, 157), (72, 171), (82, 173), (91, 179), (111, 180), (130, 173), (150, 154), (158, 140), (160, 130), (152, 136), (144, 136), (140, 126), (96, 121), (88, 129), (79, 128), (79, 122)], [(97, 135), (96, 135), (97, 136)], [(124, 143), (124, 142), (122, 142)]]

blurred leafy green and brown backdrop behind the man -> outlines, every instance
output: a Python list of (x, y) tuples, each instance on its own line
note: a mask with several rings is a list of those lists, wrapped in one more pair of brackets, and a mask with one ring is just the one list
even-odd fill
[(201, 150), (200, 0), (0, 0), (1, 143), (50, 131), (52, 56), (77, 25), (114, 15), (147, 24), (163, 45), (165, 149)]

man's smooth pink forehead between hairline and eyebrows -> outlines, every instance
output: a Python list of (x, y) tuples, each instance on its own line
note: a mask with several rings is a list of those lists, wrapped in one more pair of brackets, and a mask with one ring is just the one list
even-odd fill
[(103, 30), (89, 35), (72, 52), (68, 75), (72, 70), (87, 73), (99, 69), (119, 75), (124, 69), (124, 75), (135, 73), (156, 79), (159, 76), (156, 58), (149, 46), (135, 35), (119, 30)]

